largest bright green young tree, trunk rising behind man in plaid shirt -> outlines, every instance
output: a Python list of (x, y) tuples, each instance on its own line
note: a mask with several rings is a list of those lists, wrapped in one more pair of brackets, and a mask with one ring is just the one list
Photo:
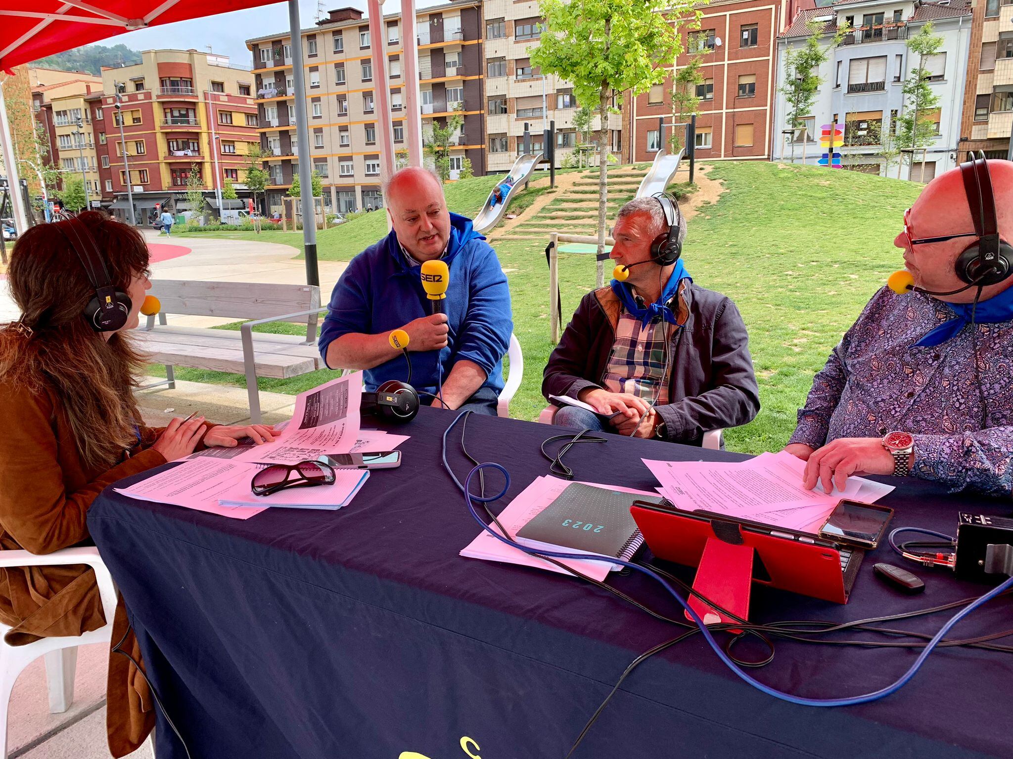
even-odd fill
[[(693, 0), (542, 0), (548, 29), (531, 52), (542, 74), (573, 83), (578, 103), (598, 103), (599, 135), (598, 255), (605, 250), (608, 204), (609, 113), (612, 99), (630, 90), (635, 96), (665, 81), (682, 39), (665, 13), (690, 14)], [(605, 280), (598, 262), (598, 283)]]

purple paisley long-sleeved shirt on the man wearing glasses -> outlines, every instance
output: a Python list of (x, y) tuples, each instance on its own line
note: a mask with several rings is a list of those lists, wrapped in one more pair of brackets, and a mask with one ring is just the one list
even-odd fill
[(941, 345), (914, 347), (952, 316), (921, 292), (876, 292), (813, 377), (789, 442), (819, 448), (839, 437), (903, 430), (915, 437), (916, 477), (951, 492), (1009, 496), (1013, 321), (979, 324), (977, 335), (968, 325)]

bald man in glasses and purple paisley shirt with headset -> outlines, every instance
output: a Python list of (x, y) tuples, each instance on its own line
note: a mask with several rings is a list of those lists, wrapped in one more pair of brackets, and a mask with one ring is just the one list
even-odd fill
[[(987, 216), (976, 220), (980, 203), (967, 198), (987, 175), (998, 235), (1013, 240), (1013, 163), (964, 164), (925, 187), (893, 241), (916, 289), (872, 297), (798, 412), (785, 450), (806, 461), (807, 488), (910, 472), (954, 492), (1011, 494), (1013, 276), (960, 289), (957, 275), (961, 252), (984, 237)], [(1001, 252), (1013, 259), (1008, 247)], [(943, 294), (952, 290), (960, 291)]]

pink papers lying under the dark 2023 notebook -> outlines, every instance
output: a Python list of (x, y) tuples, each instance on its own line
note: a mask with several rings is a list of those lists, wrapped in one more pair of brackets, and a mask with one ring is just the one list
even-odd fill
[[(535, 480), (531, 485), (519, 493), (510, 505), (499, 514), (499, 523), (510, 533), (511, 537), (517, 535), (521, 527), (531, 519), (540, 514), (550, 503), (556, 500), (559, 495), (570, 485), (569, 480), (560, 480), (557, 477), (543, 476)], [(607, 490), (618, 490), (623, 493), (632, 493), (638, 496), (656, 498), (653, 493), (645, 493), (642, 490), (632, 488), (620, 488), (615, 485), (596, 485), (595, 483), (583, 483), (595, 488), (605, 488)], [(479, 512), (481, 514), (481, 512)], [(498, 534), (502, 534), (493, 523), (491, 528)], [(560, 551), (560, 553), (570, 553)], [(577, 552), (572, 552), (577, 553)], [(550, 572), (559, 572), (568, 575), (566, 570), (551, 564), (544, 559), (526, 554), (520, 549), (508, 545), (501, 540), (497, 540), (485, 530), (482, 530), (478, 537), (468, 543), (462, 551), (461, 556), (468, 559), (483, 559), (490, 562), (505, 562), (506, 564), (520, 564), (525, 567), (537, 567), (547, 569)], [(576, 570), (582, 575), (588, 575), (596, 580), (603, 581), (609, 575), (609, 571), (615, 566), (608, 562), (581, 561), (575, 559), (556, 560), (566, 567)]]

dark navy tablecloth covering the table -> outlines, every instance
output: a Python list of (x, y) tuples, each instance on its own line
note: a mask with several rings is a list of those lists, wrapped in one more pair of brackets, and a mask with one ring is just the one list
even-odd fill
[[(412, 437), (401, 468), (374, 472), (336, 512), (278, 509), (239, 521), (111, 490), (94, 503), (91, 533), (194, 759), (562, 757), (630, 661), (679, 632), (579, 580), (459, 557), (478, 527), (440, 463), (453, 419), (423, 408), (404, 428)], [(511, 497), (547, 474), (538, 448), (550, 434), (473, 416), (467, 443), (510, 470)], [(455, 430), (450, 460), (463, 479), (470, 466), (458, 440)], [(566, 460), (579, 480), (651, 490), (641, 456), (736, 457), (615, 437), (575, 446)], [(893, 526), (950, 534), (958, 510), (1010, 509), (915, 481), (882, 503), (898, 510)], [(751, 618), (845, 621), (987, 590), (919, 570), (925, 593), (905, 596), (873, 577), (876, 561), (903, 560), (888, 547), (867, 557), (846, 606), (759, 588)], [(681, 614), (645, 578), (614, 573), (609, 582)], [(944, 618), (894, 625), (934, 632)], [(1007, 598), (953, 635), (1009, 627)], [(799, 695), (852, 695), (892, 682), (915, 657), (778, 642), (757, 676)], [(1011, 676), (1010, 655), (947, 649), (884, 700), (817, 709), (749, 687), (694, 636), (627, 679), (574, 756), (1010, 756)], [(158, 729), (159, 759), (183, 757), (161, 720)]]

